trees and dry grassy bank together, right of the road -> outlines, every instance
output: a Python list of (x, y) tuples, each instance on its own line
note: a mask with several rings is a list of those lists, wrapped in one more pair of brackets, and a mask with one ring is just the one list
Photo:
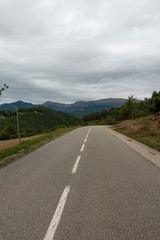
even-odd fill
[(120, 108), (83, 117), (84, 125), (113, 125), (116, 131), (160, 151), (160, 92), (137, 101), (133, 96)]

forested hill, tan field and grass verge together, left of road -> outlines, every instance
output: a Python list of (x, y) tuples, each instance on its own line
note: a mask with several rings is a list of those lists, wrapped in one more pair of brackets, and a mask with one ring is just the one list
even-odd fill
[(80, 125), (80, 119), (72, 114), (44, 106), (20, 108), (18, 119), (17, 129), (16, 111), (0, 111), (0, 167)]

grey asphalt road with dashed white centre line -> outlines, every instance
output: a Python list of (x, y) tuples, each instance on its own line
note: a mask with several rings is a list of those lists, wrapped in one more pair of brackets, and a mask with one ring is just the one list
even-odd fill
[(0, 239), (159, 240), (160, 168), (76, 129), (0, 170)]

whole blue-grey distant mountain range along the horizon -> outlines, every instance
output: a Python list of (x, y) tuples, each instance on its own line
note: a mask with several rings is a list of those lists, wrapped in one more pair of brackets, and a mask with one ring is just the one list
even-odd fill
[[(83, 117), (92, 112), (110, 110), (112, 107), (121, 107), (125, 102), (126, 99), (123, 98), (106, 98), (95, 101), (79, 101), (72, 104), (48, 101), (41, 105), (56, 111), (68, 112), (75, 116)], [(0, 105), (0, 110), (14, 110), (15, 108), (27, 108), (33, 106), (35, 105), (32, 103), (17, 101)]]

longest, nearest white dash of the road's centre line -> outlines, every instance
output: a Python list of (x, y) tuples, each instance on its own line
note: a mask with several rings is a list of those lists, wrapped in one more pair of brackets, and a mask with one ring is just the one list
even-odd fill
[(53, 218), (51, 220), (51, 223), (49, 225), (47, 233), (44, 237), (44, 240), (53, 240), (55, 232), (57, 230), (58, 224), (59, 224), (61, 216), (62, 216), (64, 206), (65, 206), (66, 201), (67, 201), (67, 196), (68, 196), (69, 191), (70, 191), (70, 185), (68, 185), (62, 193), (62, 196), (59, 200), (57, 209), (56, 209), (56, 211), (53, 215)]

